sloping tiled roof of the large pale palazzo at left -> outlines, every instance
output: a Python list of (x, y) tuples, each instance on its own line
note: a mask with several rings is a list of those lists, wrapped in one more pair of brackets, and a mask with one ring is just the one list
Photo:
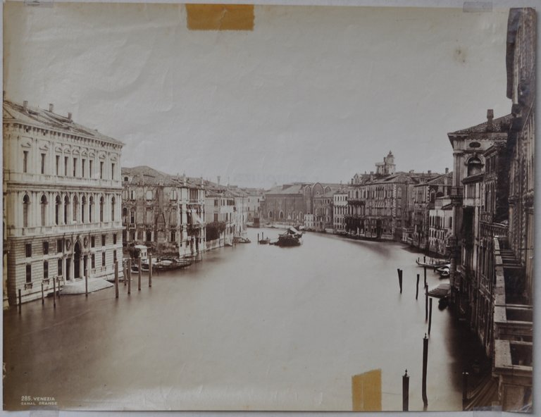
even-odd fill
[(3, 110), (4, 123), (18, 122), (43, 129), (65, 132), (68, 135), (89, 137), (90, 139), (123, 145), (123, 142), (117, 139), (102, 135), (97, 130), (75, 123), (66, 116), (61, 116), (43, 108), (27, 106), (25, 110), (20, 104), (4, 100)]

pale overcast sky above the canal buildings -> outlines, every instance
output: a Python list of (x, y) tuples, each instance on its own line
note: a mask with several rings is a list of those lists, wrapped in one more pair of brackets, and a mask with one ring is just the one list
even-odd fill
[(256, 6), (253, 32), (180, 5), (4, 8), (4, 89), (149, 165), (241, 186), (452, 167), (447, 132), (511, 109), (507, 11)]

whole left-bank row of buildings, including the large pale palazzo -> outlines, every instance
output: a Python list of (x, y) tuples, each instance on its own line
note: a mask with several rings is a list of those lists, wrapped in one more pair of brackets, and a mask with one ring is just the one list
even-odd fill
[(259, 190), (121, 168), (122, 142), (52, 104), (4, 99), (3, 114), (4, 306), (87, 275), (111, 280), (138, 244), (156, 256), (201, 256), (259, 218)]

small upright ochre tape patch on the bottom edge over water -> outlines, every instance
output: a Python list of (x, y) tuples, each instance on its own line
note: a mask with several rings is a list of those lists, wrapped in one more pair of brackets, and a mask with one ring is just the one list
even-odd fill
[(381, 411), (381, 369), (352, 376), (353, 411)]

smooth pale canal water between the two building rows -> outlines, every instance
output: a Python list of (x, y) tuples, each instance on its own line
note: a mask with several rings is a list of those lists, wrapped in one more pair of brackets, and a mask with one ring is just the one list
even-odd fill
[[(418, 255), (318, 234), (296, 248), (257, 245), (261, 231), (278, 235), (251, 229), (253, 243), (209, 251), (151, 288), (144, 275), (119, 299), (108, 289), (4, 311), (4, 406), (27, 395), (63, 409), (351, 410), (352, 375), (380, 368), (383, 409), (402, 410), (407, 368), (410, 410), (422, 410)], [(430, 287), (439, 282), (428, 273)], [(471, 351), (436, 302), (428, 410), (461, 409)]]

